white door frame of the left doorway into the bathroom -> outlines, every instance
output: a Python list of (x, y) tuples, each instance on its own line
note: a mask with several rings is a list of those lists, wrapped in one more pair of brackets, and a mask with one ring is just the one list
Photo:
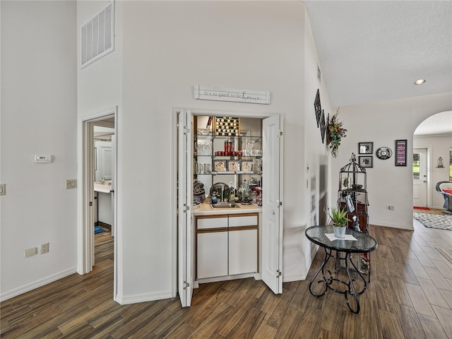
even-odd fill
[[(77, 272), (89, 273), (94, 266), (94, 123), (114, 117), (114, 178), (117, 187), (117, 107), (83, 117), (78, 121)], [(91, 204), (90, 204), (91, 203)], [(117, 194), (114, 194), (113, 223), (117, 226)], [(114, 300), (117, 299), (117, 229), (114, 232)]]

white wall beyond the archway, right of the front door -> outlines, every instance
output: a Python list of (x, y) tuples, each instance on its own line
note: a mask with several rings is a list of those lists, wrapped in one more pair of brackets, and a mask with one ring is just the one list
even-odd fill
[[(427, 174), (429, 179), (427, 206), (443, 208), (444, 196), (436, 191), (436, 183), (449, 180), (449, 150), (452, 148), (452, 136), (417, 136), (413, 138), (412, 142), (413, 148), (427, 148), (430, 152), (429, 171)], [(439, 157), (443, 158), (444, 168), (436, 168)]]

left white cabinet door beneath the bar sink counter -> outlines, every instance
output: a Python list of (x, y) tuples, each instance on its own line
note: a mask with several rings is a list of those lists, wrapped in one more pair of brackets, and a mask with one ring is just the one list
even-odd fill
[(198, 233), (197, 278), (227, 275), (227, 231)]

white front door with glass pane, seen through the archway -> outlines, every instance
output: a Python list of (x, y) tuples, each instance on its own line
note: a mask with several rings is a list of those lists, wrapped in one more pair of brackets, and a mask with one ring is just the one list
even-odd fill
[(415, 148), (412, 155), (412, 204), (427, 207), (427, 148)]

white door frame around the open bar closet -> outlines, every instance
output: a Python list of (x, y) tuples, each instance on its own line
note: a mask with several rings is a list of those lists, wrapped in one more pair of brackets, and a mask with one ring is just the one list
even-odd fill
[[(172, 210), (174, 211), (173, 213), (173, 222), (172, 222), (172, 234), (174, 234), (174, 238), (173, 238), (173, 260), (172, 260), (172, 272), (173, 272), (173, 278), (172, 278), (172, 290), (173, 290), (173, 295), (174, 297), (176, 296), (177, 293), (177, 285), (178, 285), (178, 277), (177, 277), (177, 251), (178, 251), (178, 246), (177, 246), (177, 114), (178, 112), (182, 112), (183, 110), (187, 110), (187, 111), (191, 111), (191, 116), (196, 116), (196, 115), (204, 115), (204, 116), (234, 116), (234, 117), (243, 117), (243, 118), (254, 118), (254, 119), (266, 119), (268, 117), (272, 117), (275, 115), (278, 115), (280, 117), (280, 124), (281, 124), (281, 128), (283, 128), (283, 121), (284, 121), (284, 114), (277, 114), (277, 113), (273, 113), (273, 114), (265, 114), (265, 113), (258, 113), (258, 112), (246, 112), (244, 110), (242, 111), (231, 111), (231, 110), (227, 110), (227, 111), (223, 111), (222, 109), (196, 109), (196, 108), (191, 108), (191, 107), (172, 107), (171, 108), (171, 114), (172, 114), (172, 176), (173, 176), (173, 180), (172, 182), (174, 183), (173, 189), (172, 189)], [(280, 200), (283, 201), (284, 200), (284, 194), (283, 194), (283, 146), (281, 145), (280, 148)], [(283, 208), (281, 208), (280, 210), (280, 215), (279, 215), (279, 221), (280, 221), (280, 227), (283, 227)], [(282, 246), (282, 245), (281, 245)], [(282, 249), (281, 249), (282, 251)], [(282, 262), (282, 258), (281, 258), (281, 262)], [(280, 269), (283, 269), (282, 267)], [(282, 281), (282, 279), (281, 279)], [(282, 291), (281, 291), (282, 292)]]

